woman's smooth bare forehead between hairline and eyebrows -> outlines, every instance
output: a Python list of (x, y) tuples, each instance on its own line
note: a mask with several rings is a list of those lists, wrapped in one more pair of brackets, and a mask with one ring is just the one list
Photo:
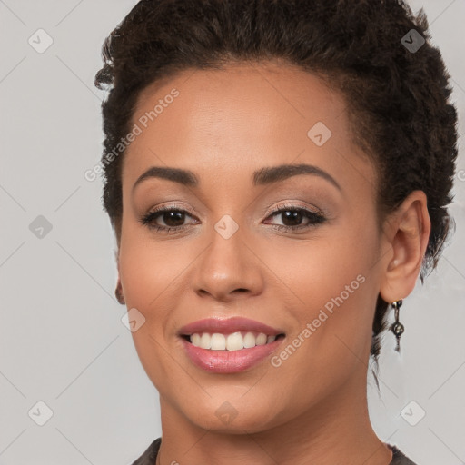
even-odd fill
[(345, 108), (322, 79), (289, 64), (185, 70), (139, 95), (132, 126), (140, 134), (124, 156), (124, 183), (163, 164), (215, 175), (279, 163), (340, 171), (355, 149)]

